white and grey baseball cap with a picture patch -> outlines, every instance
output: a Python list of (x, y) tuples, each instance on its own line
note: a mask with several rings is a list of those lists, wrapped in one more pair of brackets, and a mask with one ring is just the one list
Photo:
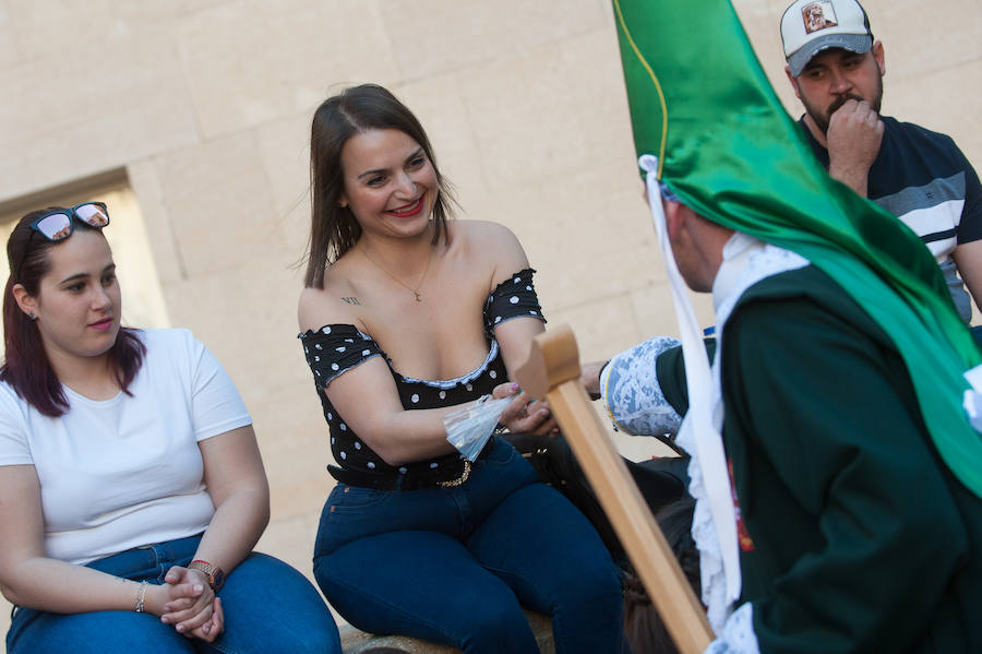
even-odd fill
[(797, 0), (781, 16), (781, 40), (788, 68), (797, 78), (822, 50), (869, 52), (873, 33), (870, 17), (855, 0)]

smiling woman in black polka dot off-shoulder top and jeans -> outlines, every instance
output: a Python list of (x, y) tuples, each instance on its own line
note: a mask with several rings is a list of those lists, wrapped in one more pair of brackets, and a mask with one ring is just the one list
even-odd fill
[(587, 520), (499, 438), (475, 462), (443, 417), (514, 396), (513, 431), (554, 428), (508, 381), (544, 318), (506, 228), (450, 221), (454, 200), (416, 117), (375, 85), (316, 110), (300, 343), (338, 484), (314, 574), (352, 625), (468, 653), (536, 653), (520, 607), (552, 616), (556, 650), (620, 652), (621, 596)]

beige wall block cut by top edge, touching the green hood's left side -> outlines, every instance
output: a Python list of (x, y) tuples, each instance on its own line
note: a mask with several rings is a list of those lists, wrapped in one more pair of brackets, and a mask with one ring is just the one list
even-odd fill
[[(599, 0), (554, 5), (520, 0), (445, 2), (398, 0), (380, 4), (402, 79), (438, 76), (602, 27), (609, 8)], [(439, 47), (419, 47), (432, 35)]]

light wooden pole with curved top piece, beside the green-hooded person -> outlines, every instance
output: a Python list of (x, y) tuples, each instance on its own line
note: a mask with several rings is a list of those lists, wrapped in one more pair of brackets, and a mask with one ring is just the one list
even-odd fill
[(597, 494), (669, 634), (682, 654), (702, 654), (712, 641), (706, 611), (648, 504), (627, 472), (579, 380), (573, 330), (539, 334), (516, 380), (532, 397), (546, 397)]

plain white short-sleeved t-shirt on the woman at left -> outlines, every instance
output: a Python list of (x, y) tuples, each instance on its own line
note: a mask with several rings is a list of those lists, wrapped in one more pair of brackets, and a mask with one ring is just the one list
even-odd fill
[(215, 508), (197, 441), (252, 424), (191, 332), (139, 334), (132, 396), (95, 402), (65, 388), (71, 408), (50, 418), (0, 382), (0, 465), (35, 466), (51, 558), (86, 563), (203, 532)]

